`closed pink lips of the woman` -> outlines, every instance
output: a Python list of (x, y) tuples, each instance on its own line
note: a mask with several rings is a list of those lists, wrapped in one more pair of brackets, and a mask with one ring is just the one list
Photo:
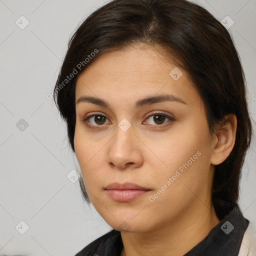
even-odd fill
[(117, 182), (107, 185), (104, 189), (106, 193), (114, 200), (119, 202), (132, 201), (141, 195), (151, 191), (151, 189), (134, 183), (120, 184)]

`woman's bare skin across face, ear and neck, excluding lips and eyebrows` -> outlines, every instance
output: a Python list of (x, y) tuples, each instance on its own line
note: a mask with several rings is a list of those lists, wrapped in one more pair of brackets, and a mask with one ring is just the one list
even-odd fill
[[(121, 231), (121, 256), (183, 255), (220, 221), (211, 202), (214, 165), (233, 148), (236, 117), (226, 116), (225, 124), (210, 134), (203, 101), (188, 75), (179, 68), (183, 74), (174, 80), (169, 72), (176, 65), (163, 55), (157, 45), (129, 45), (99, 56), (76, 82), (75, 102), (81, 96), (94, 96), (110, 105), (76, 104), (74, 147), (93, 206)], [(145, 96), (166, 93), (186, 104), (162, 101), (135, 107)], [(154, 121), (158, 110), (174, 120)], [(90, 114), (106, 118), (95, 122), (92, 116), (88, 127), (83, 118)], [(131, 124), (126, 131), (118, 127), (123, 118)], [(200, 156), (149, 201), (197, 151)], [(133, 182), (151, 191), (118, 202), (104, 190), (114, 181)], [(121, 230), (124, 224), (126, 231)]]

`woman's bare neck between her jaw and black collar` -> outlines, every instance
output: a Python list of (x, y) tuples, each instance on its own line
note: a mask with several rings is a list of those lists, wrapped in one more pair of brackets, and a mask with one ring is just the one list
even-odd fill
[(184, 213), (148, 232), (122, 232), (121, 256), (182, 256), (219, 223), (213, 205), (197, 199)]

